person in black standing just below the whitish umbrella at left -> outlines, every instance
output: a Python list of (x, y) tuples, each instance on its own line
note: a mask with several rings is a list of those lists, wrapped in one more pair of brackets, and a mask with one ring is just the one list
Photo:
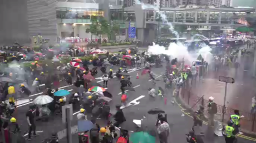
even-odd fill
[(29, 110), (26, 113), (27, 122), (29, 125), (29, 131), (28, 131), (28, 140), (31, 140), (31, 133), (33, 131), (33, 136), (36, 136), (36, 124), (35, 124), (35, 113), (36, 110), (34, 110), (34, 106), (29, 106)]

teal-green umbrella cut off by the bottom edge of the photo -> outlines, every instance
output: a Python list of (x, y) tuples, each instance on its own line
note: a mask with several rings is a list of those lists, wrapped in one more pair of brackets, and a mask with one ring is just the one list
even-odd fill
[(132, 143), (155, 143), (156, 139), (147, 132), (134, 132), (130, 136), (130, 141)]

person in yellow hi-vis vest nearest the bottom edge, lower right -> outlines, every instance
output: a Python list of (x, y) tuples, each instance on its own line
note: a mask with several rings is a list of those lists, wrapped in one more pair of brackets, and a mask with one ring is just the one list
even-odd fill
[(229, 121), (227, 126), (223, 126), (222, 134), (225, 137), (226, 143), (233, 143), (235, 140), (235, 128), (232, 127), (233, 122)]

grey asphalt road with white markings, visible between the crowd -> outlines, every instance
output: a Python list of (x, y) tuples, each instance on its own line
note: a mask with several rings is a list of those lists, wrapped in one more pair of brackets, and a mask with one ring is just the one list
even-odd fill
[[(118, 67), (115, 67), (114, 73)], [(147, 75), (141, 76), (142, 68), (134, 69), (130, 68), (129, 73), (131, 76), (131, 82), (132, 86), (135, 88), (136, 91), (127, 91), (128, 93), (128, 101), (132, 101), (135, 99), (138, 99), (136, 102), (139, 102), (138, 105), (134, 106), (127, 106), (123, 109), (126, 117), (126, 122), (122, 124), (123, 129), (127, 129), (130, 131), (130, 134), (132, 132), (136, 131), (149, 131), (151, 134), (156, 135), (156, 115), (149, 115), (147, 114), (147, 111), (158, 107), (160, 109), (163, 109), (166, 111), (167, 119), (170, 124), (171, 132), (169, 136), (169, 141), (177, 143), (184, 143), (185, 140), (185, 134), (188, 134), (190, 131), (191, 126), (193, 125), (193, 119), (190, 118), (187, 115), (184, 115), (183, 111), (181, 111), (181, 107), (179, 104), (176, 104), (175, 102), (172, 103), (171, 101), (175, 101), (173, 99), (173, 96), (171, 95), (172, 91), (165, 91), (166, 93), (166, 104), (165, 104), (165, 98), (161, 98), (160, 96), (156, 96), (156, 98), (152, 99), (147, 95), (147, 89), (162, 86), (164, 88), (164, 83), (161, 77), (161, 74), (165, 72), (164, 68), (152, 68), (152, 71), (157, 75), (157, 79), (159, 81), (156, 81), (156, 85), (152, 84), (152, 81), (150, 81), (149, 77)], [(139, 79), (136, 79), (136, 74), (139, 73)], [(101, 73), (96, 77), (100, 77)], [(100, 84), (102, 84), (102, 80), (100, 78), (96, 79)], [(65, 83), (61, 83), (62, 89), (70, 90), (71, 93), (73, 91), (76, 91), (76, 87), (72, 85), (66, 85)], [(111, 101), (111, 112), (115, 111), (115, 105), (120, 104), (121, 99), (121, 91), (120, 91), (120, 81), (116, 78), (109, 80), (109, 86), (107, 87), (107, 91), (110, 91), (112, 93), (113, 98)], [(38, 95), (31, 95), (30, 98), (35, 99)], [(31, 103), (23, 103), (18, 105), (17, 111), (14, 114), (17, 118), (17, 122), (19, 125), (21, 125), (22, 134), (27, 131), (27, 121), (26, 121), (26, 111), (28, 110), (28, 106), (32, 105)], [(77, 119), (76, 114), (78, 113), (78, 110), (73, 111), (73, 120), (72, 120), (72, 126), (77, 125)], [(132, 121), (134, 119), (141, 120), (141, 128), (138, 128)], [(104, 120), (97, 120), (96, 121), (100, 126), (106, 126), (106, 121)], [(62, 124), (62, 119), (60, 115), (53, 115), (51, 119), (48, 122), (41, 122), (37, 121), (37, 131), (39, 136), (33, 138), (29, 142), (41, 142), (43, 139), (46, 139), (47, 137), (51, 136), (52, 132), (58, 132), (63, 129), (65, 129), (65, 125)], [(204, 130), (206, 130), (206, 126), (204, 126)], [(157, 139), (157, 137), (156, 137)], [(214, 137), (213, 134), (211, 137), (205, 139), (205, 142), (224, 142), (223, 137)], [(61, 143), (66, 143), (66, 138), (63, 138), (60, 140)], [(72, 135), (72, 142), (78, 142), (77, 141), (77, 134)], [(159, 140), (157, 139), (156, 142), (158, 143)], [(244, 140), (239, 139), (239, 142), (241, 143), (250, 143), (253, 141), (250, 140)]]

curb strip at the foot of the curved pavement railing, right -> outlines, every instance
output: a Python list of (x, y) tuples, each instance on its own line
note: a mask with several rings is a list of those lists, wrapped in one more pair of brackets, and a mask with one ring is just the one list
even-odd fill
[[(182, 98), (181, 95), (181, 90), (183, 90), (182, 88), (179, 91), (179, 95), (176, 96), (177, 102), (178, 104), (180, 104), (181, 106), (184, 107), (184, 109), (190, 114), (193, 113), (193, 109), (191, 109), (190, 105), (188, 105)], [(191, 114), (190, 114), (191, 115)], [(204, 120), (204, 122), (208, 122), (208, 116), (204, 115), (204, 118), (206, 120)], [(220, 121), (221, 122), (221, 121)], [(227, 125), (225, 122), (221, 122), (223, 125)], [(240, 131), (244, 132), (244, 135), (238, 134), (239, 137), (242, 137), (244, 139), (247, 140), (252, 140), (252, 141), (256, 141), (256, 132), (252, 132), (252, 131), (248, 131), (248, 130), (243, 130), (243, 129), (239, 129)]]

